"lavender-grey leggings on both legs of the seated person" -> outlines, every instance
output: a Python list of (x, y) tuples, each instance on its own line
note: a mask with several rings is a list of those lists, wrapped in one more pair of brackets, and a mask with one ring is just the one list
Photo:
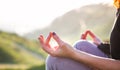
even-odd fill
[[(77, 41), (74, 44), (74, 47), (78, 50), (107, 58), (107, 55), (101, 52), (95, 44), (89, 41)], [(48, 56), (46, 60), (46, 70), (91, 70), (91, 68), (71, 59)]]

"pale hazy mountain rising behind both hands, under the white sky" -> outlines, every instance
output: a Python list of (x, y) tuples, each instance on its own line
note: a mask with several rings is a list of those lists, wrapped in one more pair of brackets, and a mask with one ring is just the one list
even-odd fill
[(56, 32), (62, 39), (74, 42), (89, 29), (101, 39), (109, 39), (114, 23), (115, 9), (108, 4), (94, 4), (71, 10), (57, 17), (50, 26), (25, 35), (28, 39), (37, 39), (40, 34), (45, 36), (50, 31)]

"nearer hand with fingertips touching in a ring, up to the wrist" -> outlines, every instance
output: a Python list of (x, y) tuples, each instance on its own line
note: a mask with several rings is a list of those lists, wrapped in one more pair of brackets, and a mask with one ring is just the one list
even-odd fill
[[(52, 46), (49, 44), (51, 38), (53, 38), (57, 42), (58, 46), (52, 48)], [(40, 35), (39, 42), (41, 44), (41, 48), (52, 56), (71, 57), (69, 55), (73, 54), (75, 50), (68, 43), (62, 41), (55, 32), (50, 32), (46, 40), (43, 35)]]

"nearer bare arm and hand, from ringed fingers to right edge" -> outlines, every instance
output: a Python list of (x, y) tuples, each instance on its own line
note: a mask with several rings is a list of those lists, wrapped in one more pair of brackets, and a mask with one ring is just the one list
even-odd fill
[[(58, 43), (58, 46), (55, 49), (51, 48), (49, 44), (52, 37)], [(39, 42), (41, 44), (41, 48), (51, 56), (73, 59), (75, 61), (82, 62), (93, 69), (120, 70), (119, 60), (91, 55), (80, 50), (78, 51), (68, 43), (61, 40), (54, 32), (50, 32), (46, 40), (42, 35), (40, 35)]]

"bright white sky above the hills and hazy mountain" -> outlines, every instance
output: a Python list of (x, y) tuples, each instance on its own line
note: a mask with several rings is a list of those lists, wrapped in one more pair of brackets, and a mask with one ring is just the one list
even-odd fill
[(113, 0), (0, 0), (0, 30), (24, 35), (50, 23), (68, 11)]

